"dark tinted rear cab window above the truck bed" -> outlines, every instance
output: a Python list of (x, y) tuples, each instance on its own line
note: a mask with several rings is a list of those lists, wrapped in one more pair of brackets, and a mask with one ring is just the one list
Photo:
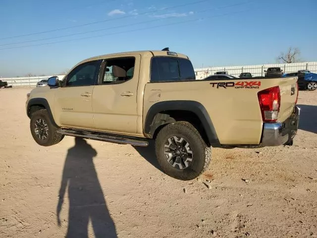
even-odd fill
[(174, 57), (154, 57), (151, 63), (151, 82), (195, 80), (190, 60)]

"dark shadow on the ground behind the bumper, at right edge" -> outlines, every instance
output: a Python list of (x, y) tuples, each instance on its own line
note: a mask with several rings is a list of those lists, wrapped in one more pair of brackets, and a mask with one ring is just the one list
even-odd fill
[(300, 111), (299, 129), (317, 133), (317, 106), (297, 105)]

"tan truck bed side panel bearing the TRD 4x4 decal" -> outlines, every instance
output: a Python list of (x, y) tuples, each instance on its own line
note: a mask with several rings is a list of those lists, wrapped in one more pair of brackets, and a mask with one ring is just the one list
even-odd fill
[[(214, 82), (237, 83), (245, 81), (261, 82), (261, 86), (223, 88), (211, 84)], [(279, 83), (279, 78), (147, 83), (144, 91), (143, 121), (145, 121), (149, 109), (157, 102), (197, 101), (206, 108), (221, 144), (256, 145), (261, 141), (263, 128), (257, 93), (266, 88), (277, 86)], [(286, 93), (288, 88), (288, 83), (282, 84), (281, 91)], [(153, 100), (153, 95), (156, 93), (154, 90), (160, 90), (160, 96), (155, 100)], [(286, 99), (285, 97), (285, 101)], [(283, 108), (290, 104), (291, 102), (285, 103)]]

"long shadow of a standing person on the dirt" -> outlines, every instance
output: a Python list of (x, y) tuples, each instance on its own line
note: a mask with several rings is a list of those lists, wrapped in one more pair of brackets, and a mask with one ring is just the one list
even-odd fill
[(114, 223), (95, 170), (96, 150), (82, 138), (68, 149), (57, 204), (57, 223), (68, 186), (69, 213), (66, 238), (88, 238), (89, 220), (96, 238), (116, 238)]

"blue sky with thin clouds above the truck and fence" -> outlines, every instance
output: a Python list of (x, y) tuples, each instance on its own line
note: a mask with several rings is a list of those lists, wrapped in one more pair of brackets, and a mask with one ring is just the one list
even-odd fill
[(317, 60), (317, 0), (0, 0), (0, 16), (2, 77), (165, 47), (194, 67), (274, 63), (290, 46)]

